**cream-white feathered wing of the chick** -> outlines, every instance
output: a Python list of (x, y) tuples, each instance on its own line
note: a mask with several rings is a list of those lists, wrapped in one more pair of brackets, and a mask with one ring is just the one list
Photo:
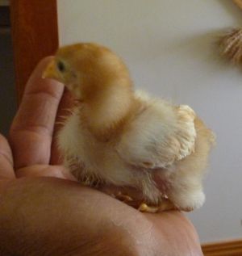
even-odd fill
[(167, 168), (194, 150), (194, 111), (161, 100), (146, 99), (145, 107), (127, 124), (117, 146), (128, 164), (148, 169)]

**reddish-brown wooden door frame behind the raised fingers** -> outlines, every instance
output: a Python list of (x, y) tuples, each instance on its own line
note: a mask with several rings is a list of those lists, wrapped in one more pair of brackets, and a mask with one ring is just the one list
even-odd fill
[(20, 103), (35, 65), (58, 48), (56, 0), (11, 0), (10, 18), (15, 83)]

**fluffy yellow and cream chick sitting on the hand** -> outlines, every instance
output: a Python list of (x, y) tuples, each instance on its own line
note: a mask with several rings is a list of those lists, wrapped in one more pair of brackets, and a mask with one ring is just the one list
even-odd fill
[(135, 91), (123, 61), (98, 44), (59, 48), (43, 77), (78, 101), (58, 145), (81, 183), (115, 187), (115, 197), (144, 212), (202, 206), (214, 135), (190, 107)]

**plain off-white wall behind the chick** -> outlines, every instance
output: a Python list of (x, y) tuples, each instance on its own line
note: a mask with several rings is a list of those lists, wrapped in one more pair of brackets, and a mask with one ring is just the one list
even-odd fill
[(207, 203), (189, 216), (203, 242), (242, 237), (242, 69), (212, 47), (242, 10), (227, 0), (58, 0), (58, 11), (60, 44), (105, 44), (137, 88), (189, 104), (214, 129)]

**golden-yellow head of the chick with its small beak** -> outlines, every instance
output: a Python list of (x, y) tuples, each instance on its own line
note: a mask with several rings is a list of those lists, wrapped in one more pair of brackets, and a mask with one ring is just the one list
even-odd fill
[(123, 61), (98, 44), (72, 44), (59, 48), (43, 73), (63, 82), (77, 99), (91, 99), (111, 86), (131, 86)]

